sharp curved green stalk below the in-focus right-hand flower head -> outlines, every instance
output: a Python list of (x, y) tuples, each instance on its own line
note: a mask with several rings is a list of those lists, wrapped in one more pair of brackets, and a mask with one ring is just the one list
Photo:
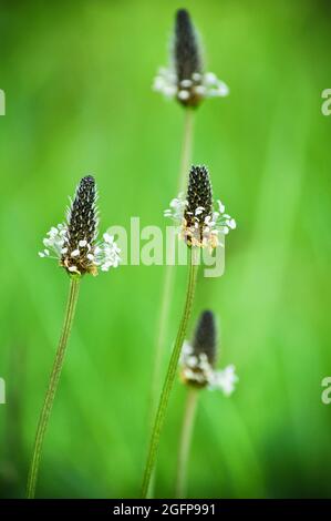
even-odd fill
[(180, 350), (182, 350), (182, 346), (185, 339), (186, 329), (187, 329), (188, 320), (189, 320), (190, 313), (192, 313), (195, 287), (196, 287), (196, 279), (197, 279), (197, 272), (198, 272), (197, 254), (198, 254), (198, 251), (196, 248), (190, 248), (186, 300), (185, 300), (184, 311), (182, 315), (179, 328), (178, 328), (176, 340), (175, 340), (175, 346), (174, 346), (172, 357), (169, 360), (165, 382), (164, 382), (163, 390), (161, 394), (153, 431), (152, 431), (152, 438), (151, 438), (149, 448), (148, 448), (148, 456), (147, 456), (147, 461), (146, 461), (144, 478), (143, 478), (143, 487), (142, 487), (143, 498), (146, 498), (148, 494), (151, 477), (154, 470), (156, 456), (157, 456), (159, 437), (161, 437), (161, 432), (164, 426), (169, 396), (170, 396), (170, 391), (172, 391), (174, 380), (176, 377)]

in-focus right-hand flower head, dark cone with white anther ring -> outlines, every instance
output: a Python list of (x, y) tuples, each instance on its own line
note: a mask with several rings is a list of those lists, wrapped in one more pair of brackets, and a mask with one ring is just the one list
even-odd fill
[(220, 234), (236, 228), (236, 221), (225, 213), (225, 206), (213, 202), (211, 183), (206, 166), (192, 166), (186, 197), (180, 193), (165, 211), (188, 246), (215, 248), (223, 245)]

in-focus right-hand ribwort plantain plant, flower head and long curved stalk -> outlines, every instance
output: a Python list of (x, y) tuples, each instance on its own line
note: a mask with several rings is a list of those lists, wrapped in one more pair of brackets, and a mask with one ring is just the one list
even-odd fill
[[(209, 173), (205, 166), (193, 166), (190, 168), (186, 200), (177, 198), (175, 201), (176, 204), (172, 205), (173, 210), (167, 211), (166, 214), (175, 218), (178, 223), (178, 234), (188, 247), (188, 280), (182, 319), (168, 364), (152, 431), (142, 487), (142, 496), (144, 498), (148, 494), (151, 478), (158, 450), (159, 437), (164, 426), (180, 350), (193, 308), (200, 248), (215, 248), (217, 246), (218, 234), (227, 228), (225, 217), (220, 217), (217, 223), (219, 213), (214, 212), (213, 210), (211, 183)], [(235, 224), (235, 222), (232, 224)]]

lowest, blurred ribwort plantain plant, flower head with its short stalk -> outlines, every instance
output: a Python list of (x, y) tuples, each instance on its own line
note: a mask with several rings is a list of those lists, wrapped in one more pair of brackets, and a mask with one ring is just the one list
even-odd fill
[(203, 311), (196, 326), (193, 343), (184, 343), (180, 355), (180, 379), (187, 386), (186, 406), (179, 441), (176, 497), (186, 496), (187, 462), (194, 428), (197, 400), (201, 389), (221, 390), (230, 396), (235, 390), (238, 377), (235, 366), (216, 370), (217, 328), (213, 311)]

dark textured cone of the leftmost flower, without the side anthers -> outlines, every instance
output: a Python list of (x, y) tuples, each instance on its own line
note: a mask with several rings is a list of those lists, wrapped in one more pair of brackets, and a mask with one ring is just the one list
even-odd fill
[(96, 186), (92, 175), (83, 177), (68, 212), (68, 228), (61, 264), (70, 273), (95, 274), (91, 263), (97, 235)]

